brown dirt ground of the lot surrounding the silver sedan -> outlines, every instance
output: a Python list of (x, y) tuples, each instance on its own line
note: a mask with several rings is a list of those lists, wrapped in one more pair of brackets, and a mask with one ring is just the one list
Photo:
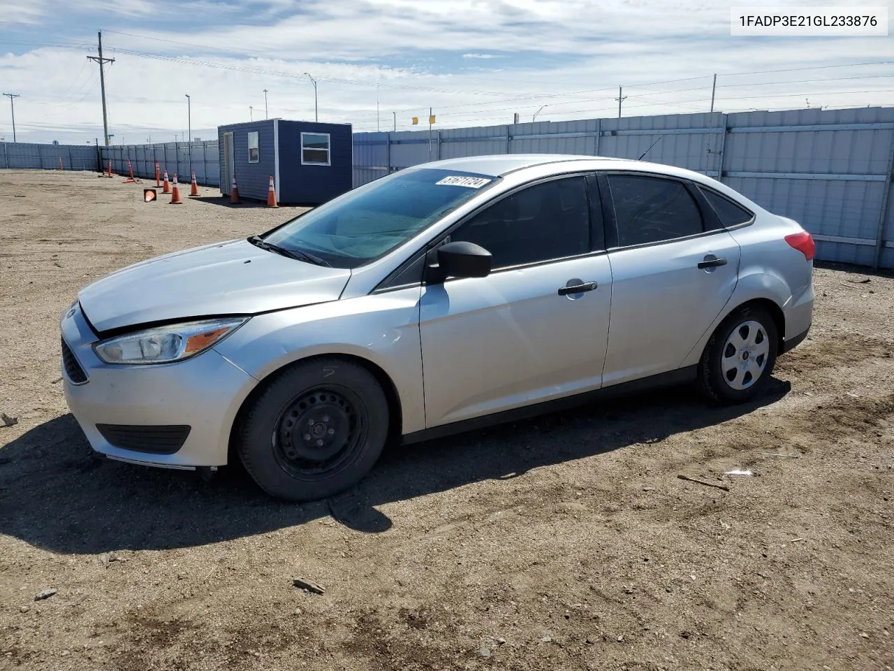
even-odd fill
[(202, 191), (0, 172), (0, 668), (894, 667), (894, 279), (817, 269), (812, 335), (755, 403), (684, 389), (395, 447), (284, 505), (239, 468), (94, 457), (58, 384), (81, 285), (295, 211)]

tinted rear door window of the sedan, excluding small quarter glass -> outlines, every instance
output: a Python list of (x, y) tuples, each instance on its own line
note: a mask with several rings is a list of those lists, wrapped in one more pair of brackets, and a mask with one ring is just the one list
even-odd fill
[(609, 174), (607, 178), (620, 247), (704, 231), (696, 201), (683, 183), (635, 174)]

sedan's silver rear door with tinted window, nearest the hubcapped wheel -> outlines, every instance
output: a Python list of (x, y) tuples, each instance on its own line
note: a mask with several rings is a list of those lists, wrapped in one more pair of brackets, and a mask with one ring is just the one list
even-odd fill
[(601, 174), (611, 260), (603, 386), (678, 369), (729, 302), (739, 247), (685, 180)]

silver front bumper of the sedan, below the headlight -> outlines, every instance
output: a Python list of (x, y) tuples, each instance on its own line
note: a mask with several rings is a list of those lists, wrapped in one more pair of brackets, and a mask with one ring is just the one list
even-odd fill
[[(65, 313), (61, 329), (70, 355), (83, 372), (81, 377), (74, 369), (72, 376), (71, 356), (66, 355), (65, 399), (93, 449), (114, 459), (167, 468), (221, 466), (227, 462), (232, 422), (257, 385), (255, 378), (214, 349), (176, 363), (107, 364), (93, 351), (98, 338), (80, 305)], [(144, 428), (144, 437), (165, 431), (170, 435), (172, 427), (189, 427), (189, 431), (173, 454), (160, 454), (151, 451), (151, 444), (139, 450), (122, 447), (138, 444), (120, 438), (124, 429), (109, 431), (105, 425), (123, 427), (131, 433)]]

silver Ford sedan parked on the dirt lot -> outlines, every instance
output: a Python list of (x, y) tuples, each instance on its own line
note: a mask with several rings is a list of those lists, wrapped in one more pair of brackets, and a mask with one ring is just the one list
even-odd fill
[(813, 258), (796, 222), (687, 170), (438, 161), (85, 287), (65, 395), (111, 458), (238, 458), (275, 497), (326, 497), (388, 441), (643, 386), (747, 401), (807, 334)]

